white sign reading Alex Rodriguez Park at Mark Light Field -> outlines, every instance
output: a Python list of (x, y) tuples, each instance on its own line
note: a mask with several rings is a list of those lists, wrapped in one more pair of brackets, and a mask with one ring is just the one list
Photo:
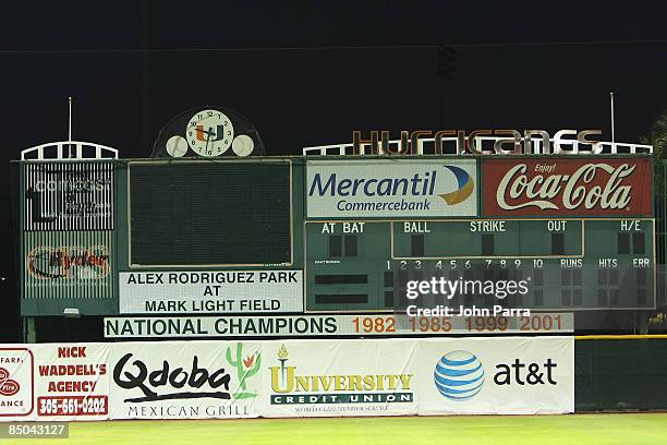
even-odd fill
[(121, 314), (303, 312), (302, 270), (121, 272)]

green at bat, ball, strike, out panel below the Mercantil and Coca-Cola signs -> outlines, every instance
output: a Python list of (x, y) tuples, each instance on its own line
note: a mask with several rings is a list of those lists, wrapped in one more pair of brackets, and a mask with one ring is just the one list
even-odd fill
[(401, 309), (407, 282), (432, 277), (527, 280), (525, 296), (499, 301), (472, 292), (436, 304), (655, 304), (652, 219), (338, 220), (310, 221), (305, 232), (308, 310)]

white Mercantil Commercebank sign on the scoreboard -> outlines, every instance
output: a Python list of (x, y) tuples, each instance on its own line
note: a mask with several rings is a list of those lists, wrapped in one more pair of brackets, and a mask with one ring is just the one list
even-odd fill
[(476, 216), (474, 159), (308, 160), (310, 218)]

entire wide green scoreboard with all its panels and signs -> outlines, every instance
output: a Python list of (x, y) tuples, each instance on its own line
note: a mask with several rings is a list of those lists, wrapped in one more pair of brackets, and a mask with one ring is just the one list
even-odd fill
[[(648, 155), (23, 161), (22, 315), (102, 315), (122, 337), (140, 318), (363, 335), (411, 305), (650, 311), (652, 171)], [(460, 288), (410, 296), (434, 280)]]

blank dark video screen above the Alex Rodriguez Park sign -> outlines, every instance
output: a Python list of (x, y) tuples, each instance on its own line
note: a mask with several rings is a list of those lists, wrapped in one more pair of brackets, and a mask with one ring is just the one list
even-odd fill
[(131, 265), (291, 264), (289, 163), (132, 163)]

